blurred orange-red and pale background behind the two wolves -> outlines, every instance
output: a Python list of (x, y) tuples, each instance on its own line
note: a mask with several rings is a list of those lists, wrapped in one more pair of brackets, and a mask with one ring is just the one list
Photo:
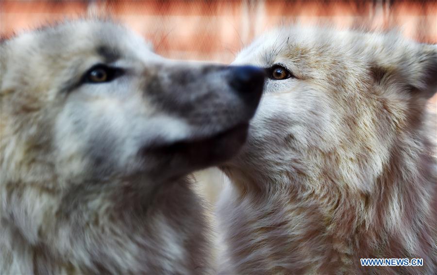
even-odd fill
[[(232, 62), (255, 36), (296, 21), (398, 27), (406, 37), (437, 43), (436, 0), (0, 0), (0, 35), (90, 15), (127, 24), (165, 57), (220, 63)], [(437, 97), (429, 108), (437, 111)], [(226, 178), (218, 170), (198, 173), (197, 178), (218, 182), (204, 191), (214, 203)]]

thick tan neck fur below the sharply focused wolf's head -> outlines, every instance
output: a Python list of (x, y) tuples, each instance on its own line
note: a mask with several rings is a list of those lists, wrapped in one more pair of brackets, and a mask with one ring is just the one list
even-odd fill
[[(219, 210), (227, 272), (431, 274), (437, 267), (437, 166), (432, 145), (419, 136), (419, 129), (398, 135), (382, 173), (367, 182), (369, 192), (350, 188), (338, 171), (306, 173), (296, 162), (288, 169), (267, 159), (224, 168), (233, 182)], [(424, 264), (361, 267), (360, 258), (422, 258)]]

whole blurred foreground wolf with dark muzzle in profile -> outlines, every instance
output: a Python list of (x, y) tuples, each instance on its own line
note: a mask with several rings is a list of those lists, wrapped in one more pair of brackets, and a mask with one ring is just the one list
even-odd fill
[(3, 41), (0, 273), (211, 272), (187, 174), (235, 155), (263, 83), (105, 20)]

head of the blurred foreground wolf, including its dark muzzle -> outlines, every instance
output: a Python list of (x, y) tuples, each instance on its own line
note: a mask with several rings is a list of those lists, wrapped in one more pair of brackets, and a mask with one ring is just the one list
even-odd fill
[[(264, 71), (251, 66), (166, 60), (106, 21), (2, 42), (2, 217), (36, 240), (38, 226), (62, 207), (72, 217), (108, 192), (123, 199), (114, 191), (122, 186), (132, 196), (152, 194), (229, 159), (245, 141), (263, 84)], [(95, 210), (103, 213), (102, 204)]]

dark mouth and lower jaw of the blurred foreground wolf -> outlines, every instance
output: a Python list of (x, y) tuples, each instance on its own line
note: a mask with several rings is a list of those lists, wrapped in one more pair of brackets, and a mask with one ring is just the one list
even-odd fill
[(246, 141), (248, 129), (248, 123), (241, 123), (209, 137), (149, 147), (143, 153), (181, 158), (190, 163), (190, 166), (207, 167), (233, 157)]

